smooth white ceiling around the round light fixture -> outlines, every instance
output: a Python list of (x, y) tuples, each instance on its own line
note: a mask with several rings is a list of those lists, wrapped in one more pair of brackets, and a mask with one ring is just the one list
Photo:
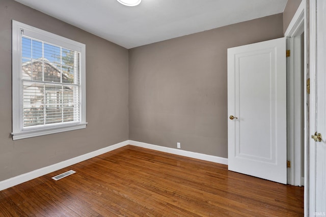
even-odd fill
[(287, 0), (15, 0), (87, 32), (133, 48), (282, 13)]

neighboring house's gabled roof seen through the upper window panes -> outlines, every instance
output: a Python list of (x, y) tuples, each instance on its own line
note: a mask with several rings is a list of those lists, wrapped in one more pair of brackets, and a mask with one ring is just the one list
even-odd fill
[(33, 59), (22, 64), (22, 77), (32, 78), (32, 80), (42, 81), (42, 72), (44, 70), (44, 81), (71, 83), (67, 73), (60, 71), (53, 63), (46, 58)]

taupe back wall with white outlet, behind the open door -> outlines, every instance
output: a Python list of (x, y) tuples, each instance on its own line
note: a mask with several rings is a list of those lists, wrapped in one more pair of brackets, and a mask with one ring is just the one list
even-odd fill
[(227, 48), (283, 37), (282, 14), (129, 50), (129, 139), (227, 158)]

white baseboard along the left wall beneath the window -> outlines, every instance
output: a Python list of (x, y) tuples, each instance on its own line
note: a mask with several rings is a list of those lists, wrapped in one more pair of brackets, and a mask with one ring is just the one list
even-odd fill
[(0, 191), (2, 191), (4, 189), (8, 189), (10, 187), (13, 187), (17, 184), (23, 183), (25, 181), (29, 181), (31, 179), (40, 177), (42, 175), (45, 175), (45, 174), (60, 170), (62, 168), (71, 166), (73, 164), (94, 158), (96, 156), (99, 156), (100, 154), (115, 150), (115, 149), (123, 147), (125, 145), (128, 145), (128, 140), (114, 144), (114, 145), (107, 146), (105, 148), (98, 149), (96, 151), (92, 151), (92, 152), (83, 154), (81, 156), (78, 156), (78, 157), (57, 163), (57, 164), (53, 164), (53, 165), (50, 165), (47, 167), (43, 167), (43, 168), (28, 172), (28, 173), (24, 173), (24, 174), (0, 181)]

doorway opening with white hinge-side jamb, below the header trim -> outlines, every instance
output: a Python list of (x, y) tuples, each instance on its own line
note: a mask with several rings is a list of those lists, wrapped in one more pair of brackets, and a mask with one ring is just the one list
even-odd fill
[(305, 52), (304, 32), (287, 38), (287, 183), (304, 185)]

